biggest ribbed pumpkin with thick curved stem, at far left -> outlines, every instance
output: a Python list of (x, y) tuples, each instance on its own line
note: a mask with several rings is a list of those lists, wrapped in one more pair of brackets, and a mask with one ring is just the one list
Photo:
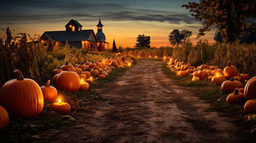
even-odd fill
[(20, 117), (38, 116), (44, 107), (44, 96), (38, 83), (14, 70), (17, 79), (6, 82), (0, 91), (0, 105), (9, 114)]

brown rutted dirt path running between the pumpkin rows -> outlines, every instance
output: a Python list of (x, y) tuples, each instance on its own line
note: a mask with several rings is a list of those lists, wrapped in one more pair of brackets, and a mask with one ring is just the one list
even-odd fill
[(166, 78), (160, 61), (137, 60), (100, 92), (112, 103), (95, 103), (96, 113), (80, 112), (75, 119), (85, 128), (52, 142), (240, 142), (230, 119), (204, 111), (210, 105)]

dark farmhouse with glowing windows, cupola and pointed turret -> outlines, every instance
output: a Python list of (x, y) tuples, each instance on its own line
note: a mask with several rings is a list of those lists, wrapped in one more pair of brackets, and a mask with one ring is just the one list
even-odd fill
[(66, 41), (70, 46), (76, 46), (76, 48), (83, 48), (87, 51), (105, 51), (109, 48), (109, 43), (106, 42), (106, 37), (102, 32), (103, 24), (98, 21), (97, 34), (91, 30), (82, 30), (82, 25), (76, 20), (70, 20), (66, 24), (66, 30), (64, 31), (48, 31), (42, 34), (41, 42), (48, 43), (53, 41), (54, 46), (65, 46)]

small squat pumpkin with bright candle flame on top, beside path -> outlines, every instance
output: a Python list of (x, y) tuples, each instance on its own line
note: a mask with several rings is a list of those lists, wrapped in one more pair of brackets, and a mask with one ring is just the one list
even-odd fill
[(61, 102), (60, 98), (58, 98), (58, 102), (54, 102), (54, 104), (51, 105), (51, 110), (57, 113), (69, 113), (71, 108), (67, 102)]

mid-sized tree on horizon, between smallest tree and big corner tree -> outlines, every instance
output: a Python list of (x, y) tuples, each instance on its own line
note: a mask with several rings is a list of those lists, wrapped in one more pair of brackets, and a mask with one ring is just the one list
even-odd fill
[(189, 30), (178, 30), (174, 29), (170, 34), (169, 34), (169, 42), (171, 45), (180, 45), (184, 41), (187, 41), (189, 37), (192, 35), (192, 31)]

